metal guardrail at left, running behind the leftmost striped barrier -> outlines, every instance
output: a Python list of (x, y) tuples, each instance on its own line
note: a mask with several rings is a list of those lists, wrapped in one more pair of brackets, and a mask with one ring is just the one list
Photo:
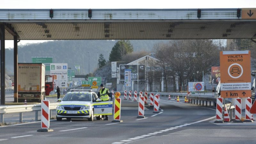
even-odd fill
[[(52, 117), (52, 110), (57, 108), (59, 103), (50, 103), (50, 117)], [(41, 111), (41, 104), (31, 105), (15, 105), (15, 106), (0, 106), (0, 124), (4, 123), (4, 114), (20, 113), (20, 122), (22, 122), (22, 113), (35, 111), (35, 120), (38, 120), (38, 111)]]

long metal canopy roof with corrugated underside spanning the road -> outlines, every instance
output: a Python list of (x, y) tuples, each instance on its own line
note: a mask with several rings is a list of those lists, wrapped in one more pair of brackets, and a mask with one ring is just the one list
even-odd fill
[[(256, 38), (256, 19), (237, 9), (0, 9), (5, 39), (237, 39)], [(12, 29), (10, 31), (10, 29)]]

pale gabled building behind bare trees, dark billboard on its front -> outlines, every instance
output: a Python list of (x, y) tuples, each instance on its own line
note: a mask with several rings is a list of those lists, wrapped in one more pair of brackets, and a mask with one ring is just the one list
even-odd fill
[[(151, 54), (124, 65), (117, 65), (117, 90), (163, 92), (165, 84), (159, 62)], [(173, 90), (173, 83), (167, 83), (168, 91)]]

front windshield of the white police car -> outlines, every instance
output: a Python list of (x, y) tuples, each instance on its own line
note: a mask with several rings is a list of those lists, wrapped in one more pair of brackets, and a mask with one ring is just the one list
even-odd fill
[(90, 93), (67, 93), (63, 101), (91, 101)]

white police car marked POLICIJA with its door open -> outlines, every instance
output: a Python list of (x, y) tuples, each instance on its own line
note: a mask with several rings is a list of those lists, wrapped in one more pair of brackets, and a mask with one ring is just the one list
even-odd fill
[(56, 108), (57, 121), (62, 118), (88, 118), (93, 121), (101, 119), (101, 115), (112, 115), (113, 101), (101, 101), (92, 90), (71, 90), (68, 92)]

